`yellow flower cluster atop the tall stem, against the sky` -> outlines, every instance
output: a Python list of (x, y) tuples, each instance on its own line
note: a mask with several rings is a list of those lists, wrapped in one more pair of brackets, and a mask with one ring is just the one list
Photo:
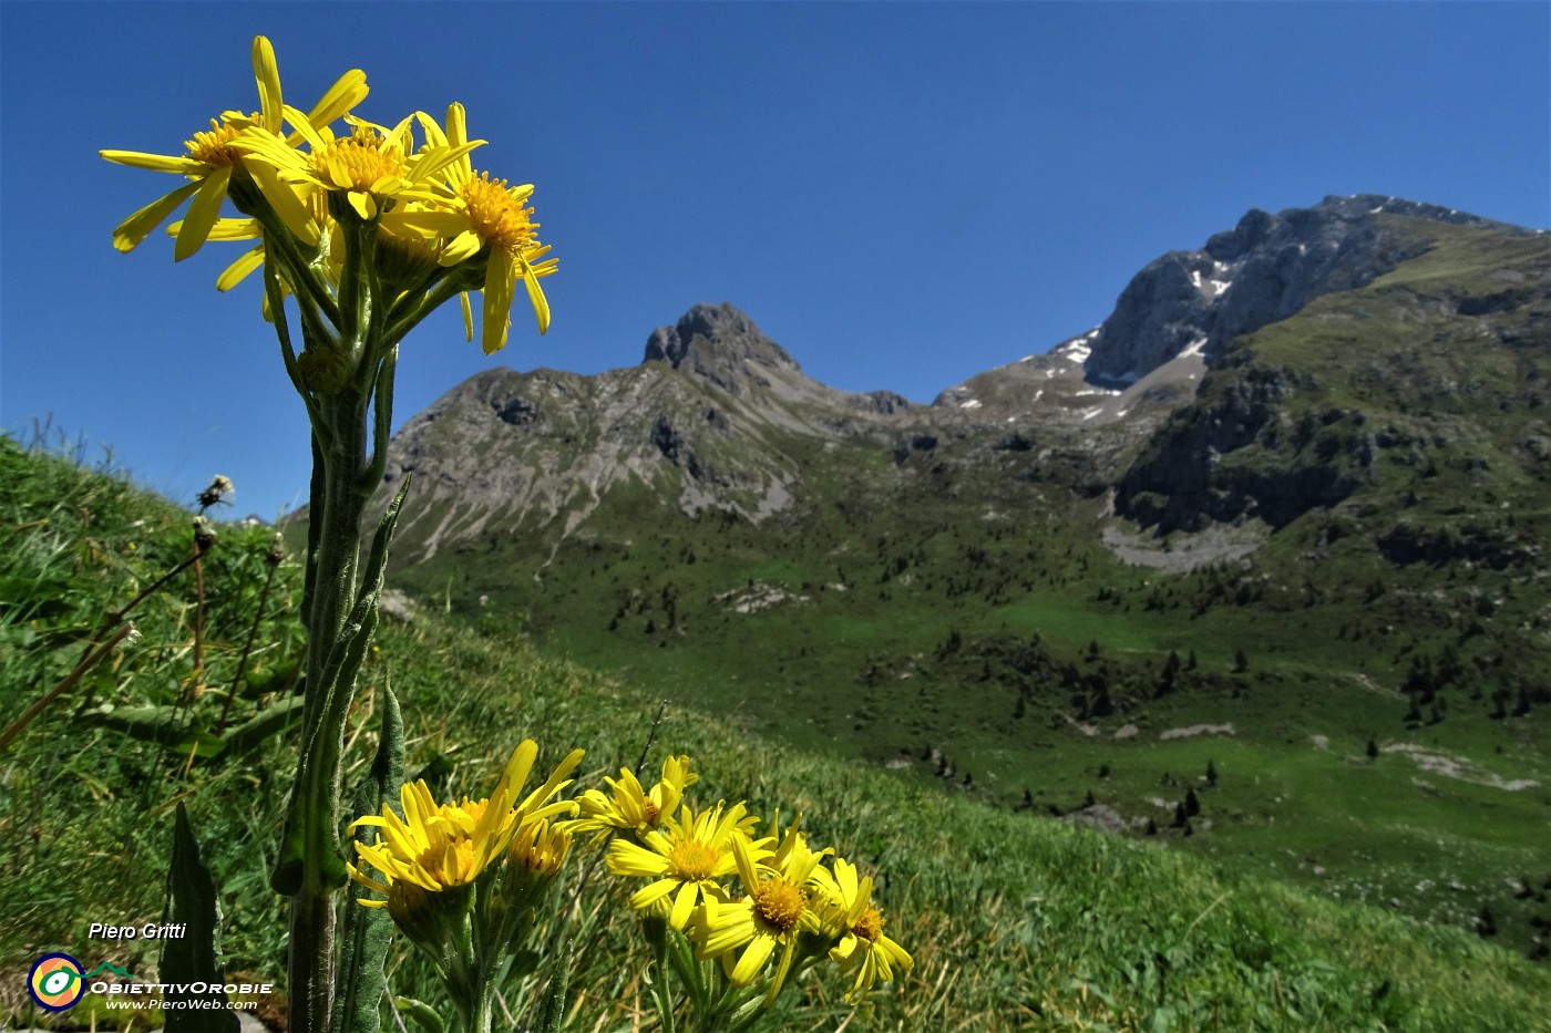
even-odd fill
[[(257, 240), (216, 281), (230, 290), (268, 256), (318, 275), (340, 293), (349, 262), (347, 228), (371, 230), (378, 276), (392, 290), (389, 302), (430, 296), (450, 281), (462, 299), (464, 323), (473, 340), (468, 292), (484, 296), (481, 343), (485, 354), (506, 344), (516, 281), (523, 281), (538, 318), (549, 329), (549, 302), (538, 281), (557, 268), (544, 257), (538, 223), (527, 206), (532, 185), (512, 186), (468, 160), (484, 140), (468, 140), (461, 104), (447, 109), (445, 127), (414, 112), (391, 129), (351, 113), (368, 93), (366, 74), (351, 70), (309, 110), (290, 107), (281, 95), (275, 50), (253, 40), (253, 74), (259, 110), (228, 110), (195, 132), (180, 155), (102, 150), (109, 161), (172, 172), (188, 185), (146, 205), (113, 231), (113, 245), (130, 251), (189, 200), (185, 217), (171, 226), (174, 259), (199, 251), (206, 240)], [(332, 124), (343, 119), (346, 132)], [(416, 143), (419, 129), (420, 143)], [(231, 202), (244, 217), (222, 216)], [(285, 282), (290, 292), (298, 284)], [(450, 296), (450, 295), (448, 295)]]

